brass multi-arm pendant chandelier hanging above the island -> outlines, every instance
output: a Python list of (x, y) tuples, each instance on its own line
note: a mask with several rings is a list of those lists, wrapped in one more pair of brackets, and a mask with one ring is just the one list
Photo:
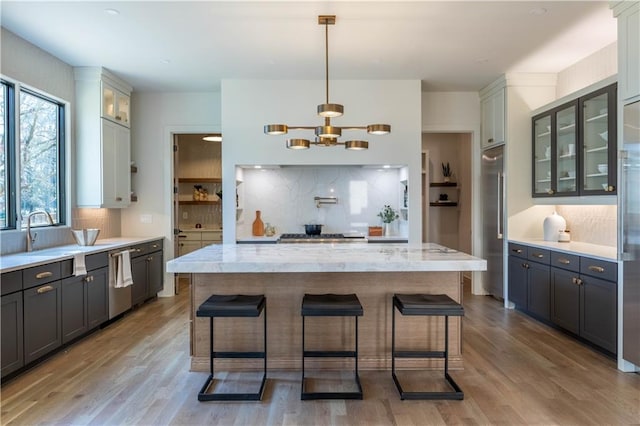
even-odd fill
[(287, 139), (287, 148), (289, 149), (309, 149), (311, 145), (318, 146), (338, 146), (344, 145), (350, 150), (365, 150), (369, 148), (369, 142), (364, 140), (348, 140), (340, 142), (338, 138), (342, 136), (343, 130), (366, 130), (372, 135), (385, 135), (391, 132), (391, 126), (388, 124), (369, 124), (367, 126), (332, 126), (331, 119), (340, 117), (344, 113), (344, 107), (340, 104), (329, 102), (329, 25), (335, 25), (335, 15), (318, 16), (318, 24), (324, 25), (325, 40), (325, 103), (318, 105), (318, 115), (324, 118), (322, 126), (289, 126), (287, 124), (267, 124), (264, 126), (264, 132), (268, 135), (284, 135), (289, 130), (313, 130), (315, 139)]

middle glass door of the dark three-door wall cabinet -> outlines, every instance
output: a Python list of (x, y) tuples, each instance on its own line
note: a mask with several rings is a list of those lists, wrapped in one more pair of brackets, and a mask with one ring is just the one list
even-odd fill
[(578, 170), (577, 142), (577, 105), (560, 107), (555, 120), (555, 193), (569, 195), (578, 191), (576, 173)]

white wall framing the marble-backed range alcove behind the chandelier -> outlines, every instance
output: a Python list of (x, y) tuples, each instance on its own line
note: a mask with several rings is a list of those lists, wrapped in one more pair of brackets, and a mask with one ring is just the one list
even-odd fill
[[(396, 164), (409, 168), (409, 200), (420, 199), (420, 104), (418, 80), (332, 81), (331, 102), (344, 105), (344, 116), (335, 125), (386, 123), (391, 133), (368, 135), (345, 131), (341, 140), (365, 139), (367, 151), (341, 147), (288, 150), (288, 137), (313, 139), (312, 131), (269, 136), (263, 126), (271, 123), (317, 126), (322, 124), (316, 107), (324, 102), (324, 81), (224, 80), (222, 82), (222, 158), (224, 241), (232, 243), (235, 232), (235, 166), (262, 165), (360, 165)], [(412, 182), (416, 182), (415, 185)], [(409, 210), (410, 242), (420, 242), (420, 203)], [(229, 232), (230, 227), (233, 227)]]

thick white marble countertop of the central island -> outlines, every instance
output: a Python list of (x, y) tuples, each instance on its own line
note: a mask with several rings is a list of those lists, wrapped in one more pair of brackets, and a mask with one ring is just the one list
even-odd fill
[(437, 244), (218, 244), (167, 262), (167, 272), (484, 271), (484, 259)]

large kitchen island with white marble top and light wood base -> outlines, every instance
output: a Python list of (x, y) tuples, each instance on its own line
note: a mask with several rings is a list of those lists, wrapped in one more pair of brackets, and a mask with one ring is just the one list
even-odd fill
[[(364, 308), (359, 319), (359, 363), (363, 369), (391, 366), (393, 293), (447, 294), (462, 303), (462, 272), (482, 271), (486, 261), (437, 244), (223, 244), (211, 245), (167, 262), (167, 272), (190, 273), (191, 369), (209, 368), (209, 321), (196, 318), (211, 294), (264, 294), (268, 311), (268, 368), (299, 369), (305, 293), (355, 293)], [(216, 347), (256, 350), (262, 330), (255, 318), (216, 321)], [(339, 349), (351, 345), (352, 318), (309, 321), (307, 347)], [(442, 345), (442, 319), (397, 317), (404, 349)], [(335, 333), (334, 330), (339, 330)], [(249, 338), (246, 337), (247, 333)], [(462, 368), (460, 318), (449, 320), (450, 368)], [(346, 338), (344, 337), (346, 336)], [(321, 342), (321, 343), (320, 343)], [(218, 349), (231, 350), (231, 349)], [(220, 360), (233, 368), (236, 360)], [(246, 363), (246, 361), (243, 361)], [(325, 368), (349, 361), (322, 360)], [(440, 366), (441, 360), (407, 360), (403, 366)], [(309, 363), (313, 367), (313, 363)], [(258, 364), (256, 364), (258, 366)]]

